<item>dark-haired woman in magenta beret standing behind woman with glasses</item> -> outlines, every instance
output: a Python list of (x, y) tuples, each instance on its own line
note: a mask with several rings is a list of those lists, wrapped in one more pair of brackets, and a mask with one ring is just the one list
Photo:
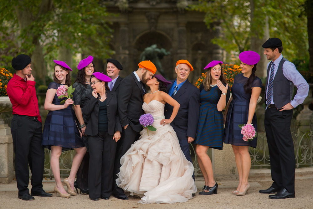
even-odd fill
[(88, 193), (88, 169), (89, 169), (89, 146), (88, 146), (88, 136), (85, 134), (86, 125), (89, 120), (89, 115), (85, 115), (82, 113), (82, 109), (86, 103), (85, 97), (87, 94), (90, 94), (93, 89), (91, 88), (91, 76), (94, 72), (97, 72), (94, 69), (93, 64), (93, 56), (88, 56), (87, 58), (81, 60), (79, 64), (77, 65), (77, 77), (73, 84), (73, 88), (75, 88), (75, 91), (73, 93), (73, 96), (75, 98), (74, 100), (74, 110), (76, 115), (76, 123), (79, 126), (80, 129), (80, 135), (81, 139), (83, 140), (87, 152), (81, 161), (80, 167), (76, 174), (76, 181), (74, 182), (74, 187), (78, 193), (78, 190), (80, 190), (80, 193)]

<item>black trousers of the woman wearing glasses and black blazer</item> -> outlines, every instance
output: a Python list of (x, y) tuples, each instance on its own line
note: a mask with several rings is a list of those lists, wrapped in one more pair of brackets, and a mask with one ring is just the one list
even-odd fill
[(116, 142), (108, 132), (89, 136), (89, 197), (110, 197), (112, 192)]

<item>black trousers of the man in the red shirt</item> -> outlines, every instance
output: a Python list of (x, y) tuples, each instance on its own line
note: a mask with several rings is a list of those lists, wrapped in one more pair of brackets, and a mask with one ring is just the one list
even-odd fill
[(42, 124), (24, 116), (14, 115), (11, 133), (15, 153), (15, 176), (18, 195), (29, 193), (29, 171), (32, 172), (32, 193), (43, 191), (44, 147), (42, 143)]

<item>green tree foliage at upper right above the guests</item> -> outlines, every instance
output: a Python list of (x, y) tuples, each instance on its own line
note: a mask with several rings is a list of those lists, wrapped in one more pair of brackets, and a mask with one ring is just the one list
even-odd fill
[(269, 35), (282, 40), (284, 56), (290, 60), (308, 56), (305, 0), (200, 0), (191, 9), (206, 12), (204, 21), (209, 28), (221, 27), (223, 35), (212, 41), (229, 53), (249, 50), (251, 36), (264, 34), (268, 17)]

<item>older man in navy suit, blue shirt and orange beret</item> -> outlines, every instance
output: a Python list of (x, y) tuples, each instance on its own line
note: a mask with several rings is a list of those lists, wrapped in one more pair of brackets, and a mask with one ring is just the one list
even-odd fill
[[(200, 102), (200, 90), (187, 79), (191, 71), (193, 71), (193, 67), (187, 60), (178, 60), (175, 67), (177, 78), (171, 81), (172, 85), (167, 86), (168, 94), (180, 104), (171, 126), (177, 134), (182, 152), (190, 162), (192, 159), (189, 143), (196, 138)], [(173, 107), (166, 103), (165, 118), (170, 118), (172, 112)], [(192, 177), (194, 178), (194, 175)]]

